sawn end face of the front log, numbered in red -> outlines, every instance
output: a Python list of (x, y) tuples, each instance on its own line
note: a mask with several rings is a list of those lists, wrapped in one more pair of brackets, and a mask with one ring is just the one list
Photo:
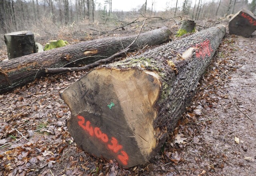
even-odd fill
[(140, 164), (156, 146), (159, 92), (154, 72), (94, 69), (61, 94), (72, 113), (68, 129), (89, 153), (125, 167)]

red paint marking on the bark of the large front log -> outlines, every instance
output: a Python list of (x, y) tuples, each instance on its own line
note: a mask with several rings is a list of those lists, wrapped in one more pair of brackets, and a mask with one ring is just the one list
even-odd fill
[(208, 39), (200, 44), (196, 44), (195, 48), (197, 48), (197, 50), (196, 50), (197, 58), (202, 57), (204, 59), (204, 57), (206, 55), (210, 56), (211, 52), (213, 51), (212, 46), (210, 44), (210, 40), (208, 40)]

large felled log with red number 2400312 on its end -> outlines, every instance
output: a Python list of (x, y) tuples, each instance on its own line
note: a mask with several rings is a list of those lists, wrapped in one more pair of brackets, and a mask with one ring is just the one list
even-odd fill
[(190, 104), (225, 29), (212, 27), (88, 72), (61, 94), (74, 141), (124, 167), (150, 160)]

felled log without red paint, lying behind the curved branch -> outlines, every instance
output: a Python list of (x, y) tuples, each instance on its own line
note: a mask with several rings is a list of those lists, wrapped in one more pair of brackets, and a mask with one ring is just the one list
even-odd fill
[(137, 36), (130, 50), (138, 49), (146, 44), (162, 44), (170, 39), (171, 34), (172, 32), (167, 27), (162, 27), (139, 36), (136, 34), (92, 40), (0, 62), (0, 94), (24, 86), (34, 81), (35, 78), (46, 76), (45, 68), (78, 66), (81, 62), (90, 64), (123, 50)]

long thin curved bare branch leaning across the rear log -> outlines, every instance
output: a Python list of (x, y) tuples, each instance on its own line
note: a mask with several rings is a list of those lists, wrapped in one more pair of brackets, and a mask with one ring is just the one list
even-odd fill
[(96, 62), (94, 62), (94, 63), (92, 63), (92, 64), (88, 64), (88, 65), (86, 65), (86, 66), (83, 66), (83, 67), (73, 67), (73, 68), (46, 68), (45, 69), (45, 72), (46, 73), (64, 73), (64, 72), (70, 72), (70, 71), (81, 71), (81, 70), (89, 70), (90, 68), (93, 68), (93, 67), (96, 67), (96, 66), (99, 66), (100, 64), (104, 64), (104, 63), (106, 63), (106, 62), (110, 62), (110, 61), (112, 61), (114, 58), (116, 58), (116, 57), (118, 57), (118, 56), (120, 56), (120, 55), (122, 55), (122, 54), (124, 54), (124, 53), (126, 53), (126, 52), (128, 52), (129, 50), (130, 50), (130, 46), (132, 46), (132, 44), (134, 44), (134, 42), (137, 40), (137, 38), (138, 38), (138, 36), (140, 35), (140, 32), (141, 32), (141, 30), (142, 30), (142, 28), (143, 28), (143, 26), (144, 26), (144, 24), (145, 24), (145, 21), (146, 21), (146, 19), (144, 20), (144, 22), (143, 22), (143, 24), (142, 24), (142, 26), (141, 26), (141, 28), (140, 28), (140, 31), (139, 31), (139, 33), (138, 33), (138, 35), (136, 36), (136, 38), (133, 40), (133, 42), (129, 45), (129, 46), (127, 46), (126, 48), (124, 48), (124, 50), (122, 50), (122, 51), (120, 51), (120, 52), (118, 52), (118, 53), (116, 53), (116, 54), (113, 54), (112, 56), (110, 56), (110, 57), (108, 57), (108, 58), (106, 58), (106, 59), (102, 59), (102, 60), (98, 60), (98, 61), (96, 61)]

